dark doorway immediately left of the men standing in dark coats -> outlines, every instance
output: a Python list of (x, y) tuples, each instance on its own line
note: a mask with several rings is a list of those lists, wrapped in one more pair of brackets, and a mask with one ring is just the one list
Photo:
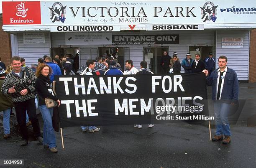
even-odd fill
[(154, 74), (161, 74), (161, 57), (164, 51), (169, 51), (169, 47), (143, 47), (143, 60), (148, 63), (148, 70)]

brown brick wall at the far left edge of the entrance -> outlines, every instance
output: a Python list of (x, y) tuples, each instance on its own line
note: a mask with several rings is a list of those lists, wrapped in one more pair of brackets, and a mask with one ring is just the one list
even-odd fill
[(2, 29), (3, 15), (0, 14), (0, 57), (5, 66), (10, 65), (10, 58), (12, 57), (12, 48), (10, 41), (10, 34)]

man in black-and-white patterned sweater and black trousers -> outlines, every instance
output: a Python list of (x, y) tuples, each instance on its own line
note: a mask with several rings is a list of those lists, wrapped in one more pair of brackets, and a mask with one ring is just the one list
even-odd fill
[(35, 137), (40, 143), (43, 142), (41, 137), (40, 126), (36, 117), (35, 104), (35, 81), (36, 75), (31, 68), (21, 67), (21, 59), (18, 56), (11, 58), (13, 71), (5, 77), (2, 86), (2, 92), (5, 95), (11, 94), (15, 106), (17, 121), (20, 127), (20, 133), (23, 139), (22, 146), (28, 145), (28, 132), (26, 127), (26, 110), (28, 117), (32, 122)]

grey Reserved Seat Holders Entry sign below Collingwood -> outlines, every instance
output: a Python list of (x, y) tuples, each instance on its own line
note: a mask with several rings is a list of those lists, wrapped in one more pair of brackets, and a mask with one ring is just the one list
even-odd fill
[(66, 33), (66, 45), (112, 44), (112, 33)]

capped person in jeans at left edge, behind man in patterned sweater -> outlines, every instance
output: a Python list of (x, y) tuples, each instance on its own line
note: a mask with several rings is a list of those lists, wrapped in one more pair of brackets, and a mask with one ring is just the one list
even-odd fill
[[(5, 75), (5, 70), (0, 66), (0, 87), (3, 86)], [(3, 111), (4, 139), (10, 138), (10, 112), (13, 107), (12, 97), (0, 92), (0, 111)]]

